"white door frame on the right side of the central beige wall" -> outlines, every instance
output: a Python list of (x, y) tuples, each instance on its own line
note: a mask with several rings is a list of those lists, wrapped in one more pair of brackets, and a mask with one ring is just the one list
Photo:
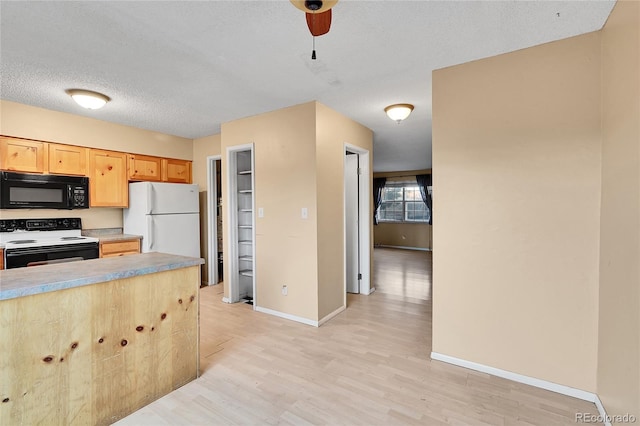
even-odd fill
[(352, 145), (345, 142), (342, 155), (343, 155), (343, 211), (342, 211), (342, 225), (343, 225), (343, 257), (344, 257), (344, 271), (343, 271), (343, 287), (344, 287), (344, 304), (347, 304), (347, 224), (346, 224), (346, 178), (345, 174), (345, 161), (344, 157), (347, 155), (347, 151), (358, 155), (358, 165), (360, 168), (360, 178), (358, 179), (358, 238), (359, 238), (359, 261), (360, 261), (360, 273), (362, 279), (360, 280), (360, 294), (369, 295), (375, 291), (375, 288), (371, 286), (371, 202), (372, 202), (372, 189), (371, 189), (371, 169), (370, 169), (370, 153), (369, 150)]

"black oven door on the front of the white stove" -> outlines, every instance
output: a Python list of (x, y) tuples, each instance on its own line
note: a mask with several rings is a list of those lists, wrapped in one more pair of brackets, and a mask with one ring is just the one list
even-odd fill
[(97, 259), (98, 254), (98, 243), (95, 242), (46, 247), (7, 248), (5, 250), (5, 267), (11, 269)]

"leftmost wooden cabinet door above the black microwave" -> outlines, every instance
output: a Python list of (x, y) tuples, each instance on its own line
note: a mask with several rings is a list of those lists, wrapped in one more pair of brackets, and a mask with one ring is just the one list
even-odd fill
[(46, 173), (49, 150), (46, 142), (0, 137), (0, 169), (27, 173)]

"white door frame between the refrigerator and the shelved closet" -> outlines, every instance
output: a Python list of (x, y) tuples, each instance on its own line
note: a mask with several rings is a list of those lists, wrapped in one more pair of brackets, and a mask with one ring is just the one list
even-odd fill
[(216, 161), (220, 161), (220, 169), (222, 169), (222, 155), (207, 157), (207, 228), (209, 229), (209, 232), (207, 232), (207, 285), (214, 285), (219, 282)]

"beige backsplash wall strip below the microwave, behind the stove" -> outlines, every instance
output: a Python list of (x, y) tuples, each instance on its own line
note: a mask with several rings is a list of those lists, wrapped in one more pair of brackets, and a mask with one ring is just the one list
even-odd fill
[(52, 209), (4, 209), (0, 210), (0, 219), (41, 219), (58, 217), (79, 217), (83, 229), (122, 228), (122, 209), (92, 208), (78, 210)]

